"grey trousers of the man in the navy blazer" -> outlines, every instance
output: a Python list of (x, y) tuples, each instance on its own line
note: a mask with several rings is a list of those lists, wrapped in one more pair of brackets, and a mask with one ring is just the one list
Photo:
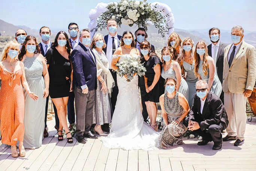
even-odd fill
[(73, 89), (76, 105), (76, 135), (86, 135), (92, 125), (92, 110), (95, 101), (95, 90), (82, 93), (82, 89), (76, 85)]

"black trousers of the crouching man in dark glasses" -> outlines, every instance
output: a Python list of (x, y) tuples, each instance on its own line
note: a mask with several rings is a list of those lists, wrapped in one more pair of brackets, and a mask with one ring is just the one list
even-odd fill
[[(188, 126), (188, 117), (186, 117), (184, 125)], [(195, 122), (198, 122), (195, 120)], [(215, 145), (220, 145), (222, 144), (222, 134), (221, 131), (223, 131), (222, 125), (210, 125), (208, 127), (208, 130), (205, 129), (204, 131), (202, 131), (201, 128), (193, 131), (196, 132), (198, 135), (200, 135), (202, 137), (203, 140), (208, 140), (208, 141), (213, 141)]]

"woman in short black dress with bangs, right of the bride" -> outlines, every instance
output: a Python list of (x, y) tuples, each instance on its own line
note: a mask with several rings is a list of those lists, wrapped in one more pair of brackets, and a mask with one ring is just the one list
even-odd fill
[(144, 62), (146, 68), (146, 74), (144, 75), (146, 96), (145, 104), (147, 107), (147, 113), (149, 114), (150, 126), (157, 131), (158, 125), (156, 123), (157, 106), (159, 102), (159, 83), (158, 80), (161, 75), (160, 59), (156, 56), (152, 50), (149, 42), (144, 40), (140, 44), (141, 62)]

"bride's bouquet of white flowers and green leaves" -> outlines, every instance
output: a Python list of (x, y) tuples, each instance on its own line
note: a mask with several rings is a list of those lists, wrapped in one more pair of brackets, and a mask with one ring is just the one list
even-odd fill
[(117, 74), (121, 77), (124, 75), (127, 76), (127, 81), (130, 82), (135, 74), (138, 76), (144, 76), (146, 68), (143, 64), (138, 61), (137, 58), (127, 58), (121, 62), (116, 63), (118, 69), (116, 70)]

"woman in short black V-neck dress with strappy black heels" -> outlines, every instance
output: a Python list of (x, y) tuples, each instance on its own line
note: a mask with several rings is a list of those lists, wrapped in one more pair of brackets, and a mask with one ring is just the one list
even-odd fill
[(54, 43), (46, 53), (47, 67), (49, 71), (49, 95), (57, 108), (60, 127), (58, 140), (63, 140), (63, 128), (67, 135), (67, 142), (73, 143), (73, 139), (67, 126), (67, 102), (69, 92), (72, 91), (72, 65), (70, 62), (71, 46), (68, 35), (60, 31), (55, 37)]

